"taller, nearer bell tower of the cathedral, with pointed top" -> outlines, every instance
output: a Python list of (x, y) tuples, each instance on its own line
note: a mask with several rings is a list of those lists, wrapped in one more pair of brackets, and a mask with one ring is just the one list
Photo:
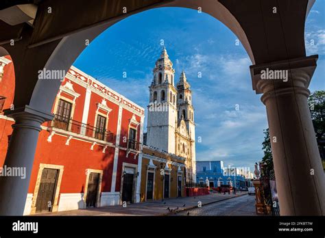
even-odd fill
[(147, 145), (175, 153), (177, 90), (174, 86), (175, 70), (165, 47), (153, 72), (154, 77), (149, 86)]

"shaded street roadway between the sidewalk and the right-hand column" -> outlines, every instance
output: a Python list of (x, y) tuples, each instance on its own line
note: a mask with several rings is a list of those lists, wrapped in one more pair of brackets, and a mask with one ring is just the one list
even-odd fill
[(240, 196), (206, 206), (181, 211), (175, 215), (256, 215), (255, 196)]

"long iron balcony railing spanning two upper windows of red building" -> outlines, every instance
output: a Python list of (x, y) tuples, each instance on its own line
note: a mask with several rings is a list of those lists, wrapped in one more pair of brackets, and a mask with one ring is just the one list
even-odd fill
[(110, 131), (101, 130), (97, 127), (92, 127), (89, 124), (84, 124), (71, 118), (64, 118), (55, 115), (52, 121), (47, 122), (47, 127), (62, 129), (80, 135), (86, 135), (97, 140), (104, 140), (105, 142), (114, 143), (115, 136)]

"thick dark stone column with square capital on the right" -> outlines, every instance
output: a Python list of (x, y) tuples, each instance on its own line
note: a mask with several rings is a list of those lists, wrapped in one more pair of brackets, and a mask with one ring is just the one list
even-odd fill
[[(325, 215), (324, 172), (307, 103), (316, 62), (314, 55), (250, 67), (267, 110), (281, 215)], [(262, 79), (272, 70), (282, 78)]]

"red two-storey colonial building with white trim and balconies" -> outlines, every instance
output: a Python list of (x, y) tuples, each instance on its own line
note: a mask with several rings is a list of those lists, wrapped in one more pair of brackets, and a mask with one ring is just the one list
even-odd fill
[[(14, 108), (13, 98), (14, 66), (0, 57), (0, 167), (14, 124), (3, 109)], [(52, 113), (38, 137), (24, 215), (139, 202), (144, 109), (71, 66)]]

